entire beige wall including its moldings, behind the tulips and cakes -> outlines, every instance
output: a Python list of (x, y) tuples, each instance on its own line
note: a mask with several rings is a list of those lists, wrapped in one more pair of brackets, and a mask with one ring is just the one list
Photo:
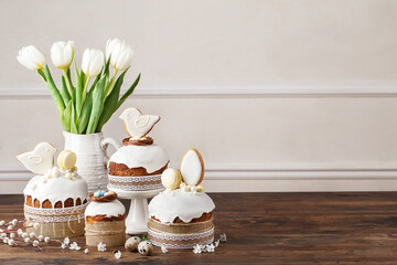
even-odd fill
[[(0, 193), (25, 182), (12, 182), (24, 173), (14, 155), (42, 140), (63, 145), (53, 103), (34, 96), (45, 88), (17, 62), (19, 49), (34, 44), (49, 61), (54, 41), (74, 40), (79, 62), (112, 36), (136, 51), (127, 83), (141, 72), (138, 91), (157, 92), (125, 106), (163, 117), (152, 135), (174, 166), (197, 147), (210, 190), (397, 189), (396, 1), (2, 0), (0, 9)], [(207, 94), (194, 96), (201, 84)], [(305, 84), (299, 97), (286, 88)], [(126, 135), (117, 115), (105, 134)]]

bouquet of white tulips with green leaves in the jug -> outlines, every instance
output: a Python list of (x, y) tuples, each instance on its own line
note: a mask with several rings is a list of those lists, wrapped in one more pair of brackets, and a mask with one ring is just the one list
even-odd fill
[[(78, 71), (74, 56), (74, 43), (72, 41), (55, 42), (51, 47), (51, 60), (54, 66), (62, 71), (60, 88), (55, 85), (50, 68), (45, 64), (44, 55), (35, 46), (22, 47), (17, 59), (22, 65), (41, 75), (55, 102), (64, 129), (72, 134), (84, 135), (100, 132), (111, 115), (138, 85), (140, 74), (120, 97), (121, 84), (132, 63), (132, 56), (133, 51), (125, 41), (108, 40), (106, 56), (100, 50), (86, 49), (82, 68)], [(71, 75), (73, 61), (74, 84)], [(118, 72), (121, 74), (117, 77)]]

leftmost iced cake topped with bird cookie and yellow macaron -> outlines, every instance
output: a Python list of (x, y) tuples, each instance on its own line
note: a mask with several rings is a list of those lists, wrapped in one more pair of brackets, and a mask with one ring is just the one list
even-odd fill
[[(87, 182), (76, 172), (76, 155), (64, 150), (54, 167), (56, 149), (49, 142), (33, 151), (17, 156), (35, 173), (23, 190), (28, 232), (54, 239), (84, 234), (84, 211), (87, 206)], [(39, 223), (34, 227), (33, 223)]]

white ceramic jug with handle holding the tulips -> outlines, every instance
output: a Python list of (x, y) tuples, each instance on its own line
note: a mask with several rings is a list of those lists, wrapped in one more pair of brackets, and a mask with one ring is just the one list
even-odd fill
[(87, 180), (88, 192), (106, 190), (108, 183), (107, 156), (108, 145), (116, 149), (121, 145), (114, 138), (104, 138), (103, 132), (76, 135), (63, 132), (65, 150), (74, 151), (77, 156), (77, 173)]

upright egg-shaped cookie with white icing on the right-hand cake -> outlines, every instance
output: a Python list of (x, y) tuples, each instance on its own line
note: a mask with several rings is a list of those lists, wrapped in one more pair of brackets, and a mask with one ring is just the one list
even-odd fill
[(192, 148), (186, 151), (181, 161), (181, 174), (183, 182), (189, 186), (197, 186), (204, 178), (204, 161), (200, 152)]

